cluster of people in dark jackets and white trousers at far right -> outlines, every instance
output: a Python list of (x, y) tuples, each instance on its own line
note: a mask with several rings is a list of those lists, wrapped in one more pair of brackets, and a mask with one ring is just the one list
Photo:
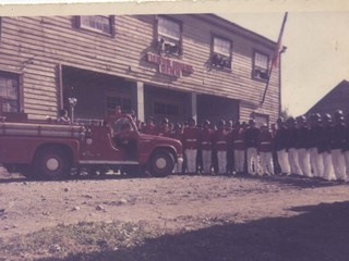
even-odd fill
[(279, 119), (275, 135), (281, 172), (327, 181), (349, 177), (349, 119), (341, 111), (334, 115), (314, 113), (286, 122)]

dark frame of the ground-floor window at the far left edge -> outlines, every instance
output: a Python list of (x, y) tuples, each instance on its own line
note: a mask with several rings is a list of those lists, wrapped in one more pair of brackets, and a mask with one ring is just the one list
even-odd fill
[[(3, 97), (0, 96), (0, 101), (1, 101), (1, 108), (0, 108), (0, 112), (9, 112), (9, 113), (19, 113), (23, 111), (23, 75), (21, 73), (17, 72), (8, 72), (8, 71), (0, 71), (0, 76), (7, 78), (7, 79), (16, 79), (16, 84), (17, 84), (17, 89), (16, 89), (16, 99), (11, 99), (9, 97)], [(9, 100), (9, 101), (15, 101), (16, 102), (16, 110), (15, 111), (8, 111), (8, 110), (3, 110), (3, 101), (4, 100)]]

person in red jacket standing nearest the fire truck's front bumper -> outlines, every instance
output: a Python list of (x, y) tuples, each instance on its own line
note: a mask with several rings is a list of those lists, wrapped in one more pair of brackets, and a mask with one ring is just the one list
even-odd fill
[(195, 120), (189, 120), (189, 126), (183, 130), (183, 149), (186, 159), (188, 173), (196, 171), (196, 156), (198, 148), (200, 130), (195, 126)]

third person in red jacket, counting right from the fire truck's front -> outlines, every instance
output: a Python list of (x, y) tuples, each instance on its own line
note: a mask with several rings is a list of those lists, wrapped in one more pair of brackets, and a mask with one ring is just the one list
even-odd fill
[(218, 174), (227, 173), (227, 149), (228, 149), (228, 133), (226, 122), (220, 120), (218, 129), (214, 134), (214, 146), (217, 151)]

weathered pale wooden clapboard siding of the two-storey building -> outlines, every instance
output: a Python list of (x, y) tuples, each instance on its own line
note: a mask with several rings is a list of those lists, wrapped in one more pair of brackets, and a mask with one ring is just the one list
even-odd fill
[[(208, 94), (257, 104), (265, 83), (252, 79), (253, 50), (273, 55), (273, 42), (209, 15), (177, 14), (183, 23), (183, 57), (194, 73), (173, 79), (158, 73), (145, 55), (154, 49), (155, 15), (115, 16), (115, 36), (77, 28), (74, 16), (2, 17), (0, 70), (23, 74), (24, 110), (56, 115), (60, 104), (58, 64), (118, 75), (164, 88)], [(228, 28), (229, 27), (229, 28)], [(212, 34), (232, 41), (230, 72), (209, 67)], [(173, 59), (176, 60), (176, 59)], [(245, 120), (253, 105), (241, 102)], [(256, 110), (275, 120), (279, 110), (279, 72), (275, 70), (265, 103)]]

